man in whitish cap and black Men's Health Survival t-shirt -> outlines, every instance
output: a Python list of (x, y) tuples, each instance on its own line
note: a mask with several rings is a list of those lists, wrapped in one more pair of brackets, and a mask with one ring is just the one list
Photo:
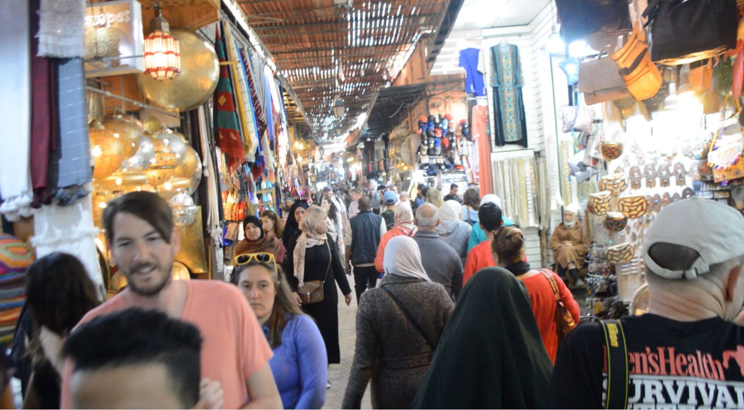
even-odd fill
[[(555, 409), (742, 409), (744, 217), (706, 199), (661, 210), (643, 248), (649, 313), (584, 324), (559, 347)], [(626, 370), (627, 369), (627, 370)]]

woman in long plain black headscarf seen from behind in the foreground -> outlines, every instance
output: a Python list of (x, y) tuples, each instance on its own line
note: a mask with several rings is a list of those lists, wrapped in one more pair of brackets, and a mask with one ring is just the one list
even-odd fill
[(506, 269), (460, 293), (412, 409), (545, 409), (553, 365), (525, 285)]

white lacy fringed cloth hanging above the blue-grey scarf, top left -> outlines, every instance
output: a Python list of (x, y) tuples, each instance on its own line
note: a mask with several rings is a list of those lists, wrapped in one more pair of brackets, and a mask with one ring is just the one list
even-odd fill
[[(7, 4), (4, 3), (3, 6), (7, 7)], [(3, 12), (15, 19), (20, 17), (7, 9)], [(86, 56), (85, 0), (41, 0), (39, 17), (39, 56)]]

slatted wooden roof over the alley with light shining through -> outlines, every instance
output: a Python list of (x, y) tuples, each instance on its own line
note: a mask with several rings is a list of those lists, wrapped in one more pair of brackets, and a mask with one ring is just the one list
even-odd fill
[[(449, 0), (238, 0), (248, 23), (304, 106), (316, 141), (362, 125), (376, 93), (397, 76)], [(449, 30), (448, 30), (449, 31)], [(434, 36), (430, 36), (434, 39)], [(346, 107), (340, 120), (333, 102)], [(338, 132), (336, 131), (338, 129)]]

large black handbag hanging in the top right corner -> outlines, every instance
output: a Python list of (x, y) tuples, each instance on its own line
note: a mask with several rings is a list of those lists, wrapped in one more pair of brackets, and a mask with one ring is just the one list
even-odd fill
[(643, 16), (649, 19), (651, 59), (658, 63), (688, 64), (737, 45), (736, 0), (650, 0)]

